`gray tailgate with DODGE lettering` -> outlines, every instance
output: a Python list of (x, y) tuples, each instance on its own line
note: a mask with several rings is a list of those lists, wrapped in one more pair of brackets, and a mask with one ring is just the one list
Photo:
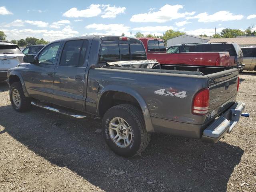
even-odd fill
[(207, 76), (210, 90), (208, 108), (208, 120), (210, 120), (224, 112), (236, 101), (238, 70), (230, 69)]

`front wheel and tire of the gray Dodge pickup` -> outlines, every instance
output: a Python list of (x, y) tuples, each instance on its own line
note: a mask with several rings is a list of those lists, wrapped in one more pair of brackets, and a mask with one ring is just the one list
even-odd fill
[[(10, 101), (14, 110), (25, 112), (31, 108), (31, 100), (26, 97), (20, 82), (14, 82), (10, 86)], [(18, 99), (18, 101), (16, 101)]]

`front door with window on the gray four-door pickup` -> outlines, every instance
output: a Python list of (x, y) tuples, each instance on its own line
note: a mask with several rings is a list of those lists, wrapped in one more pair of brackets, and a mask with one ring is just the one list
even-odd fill
[(35, 64), (29, 64), (24, 73), (24, 82), (28, 94), (36, 99), (51, 101), (53, 96), (53, 76), (61, 42), (46, 46), (35, 58)]

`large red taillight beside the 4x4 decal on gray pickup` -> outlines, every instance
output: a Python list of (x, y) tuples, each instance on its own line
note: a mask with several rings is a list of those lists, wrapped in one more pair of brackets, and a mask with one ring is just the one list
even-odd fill
[(205, 115), (209, 107), (209, 88), (202, 89), (196, 93), (192, 105), (192, 113)]

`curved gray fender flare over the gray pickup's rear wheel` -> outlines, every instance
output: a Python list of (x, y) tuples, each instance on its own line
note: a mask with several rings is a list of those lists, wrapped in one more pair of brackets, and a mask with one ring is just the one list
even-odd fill
[(150, 112), (148, 110), (148, 106), (147, 106), (145, 100), (142, 98), (142, 96), (138, 92), (133, 90), (132, 88), (119, 86), (119, 85), (105, 86), (98, 93), (99, 97), (98, 97), (98, 102), (97, 102), (97, 111), (99, 111), (100, 98), (107, 91), (123, 92), (123, 93), (129, 94), (130, 96), (134, 97), (137, 100), (137, 102), (139, 103), (140, 108), (142, 110), (147, 132), (154, 132), (154, 127), (153, 127), (153, 124), (151, 121), (151, 116), (150, 116)]

